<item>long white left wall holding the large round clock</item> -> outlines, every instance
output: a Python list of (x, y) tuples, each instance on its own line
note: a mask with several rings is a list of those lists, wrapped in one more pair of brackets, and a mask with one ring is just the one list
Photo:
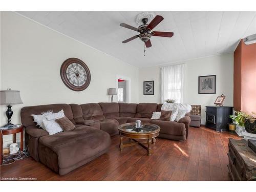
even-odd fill
[[(12, 107), (13, 123), (20, 123), (23, 106), (109, 102), (107, 89), (116, 87), (117, 73), (131, 78), (131, 102), (138, 102), (138, 68), (14, 12), (1, 14), (1, 90), (19, 90), (24, 103)], [(80, 58), (91, 71), (84, 91), (68, 89), (60, 78), (60, 66), (69, 57)], [(5, 111), (1, 106), (1, 125), (6, 123)], [(10, 140), (4, 138), (4, 147)]]

